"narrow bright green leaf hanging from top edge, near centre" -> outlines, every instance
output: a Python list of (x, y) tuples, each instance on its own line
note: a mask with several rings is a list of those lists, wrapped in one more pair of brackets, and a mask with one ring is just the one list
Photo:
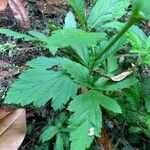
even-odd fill
[(67, 2), (72, 6), (74, 11), (79, 18), (81, 24), (85, 22), (85, 10), (84, 10), (84, 0), (67, 0)]

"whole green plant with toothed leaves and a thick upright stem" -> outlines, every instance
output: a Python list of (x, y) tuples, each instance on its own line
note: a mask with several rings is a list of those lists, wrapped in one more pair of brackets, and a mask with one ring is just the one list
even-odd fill
[[(147, 112), (144, 110), (142, 116), (145, 122), (140, 117), (132, 120), (136, 113), (140, 116), (139, 111), (143, 111), (139, 109), (138, 90), (143, 79), (137, 68), (150, 64), (149, 37), (133, 25), (143, 18), (150, 19), (149, 1), (135, 0), (127, 23), (115, 21), (126, 13), (130, 0), (98, 0), (89, 16), (85, 15), (84, 0), (68, 0), (68, 3), (76, 12), (80, 25), (69, 12), (64, 28), (53, 31), (51, 36), (37, 31), (29, 31), (26, 35), (0, 29), (0, 33), (7, 36), (41, 42), (54, 55), (28, 62), (28, 69), (9, 88), (5, 103), (22, 106), (32, 103), (41, 107), (51, 100), (52, 108), (59, 110), (60, 116), (44, 128), (41, 141), (44, 143), (56, 136), (56, 150), (89, 148), (94, 137), (100, 136), (103, 108), (111, 115), (118, 113), (121, 118), (134, 122), (146, 134), (150, 133), (149, 98), (146, 98)], [(116, 35), (106, 34), (114, 28), (119, 30)], [(129, 43), (132, 48), (128, 55), (136, 53), (137, 60), (123, 75), (115, 54)], [(58, 57), (59, 52), (63, 57)], [(119, 75), (116, 77), (116, 74)]]

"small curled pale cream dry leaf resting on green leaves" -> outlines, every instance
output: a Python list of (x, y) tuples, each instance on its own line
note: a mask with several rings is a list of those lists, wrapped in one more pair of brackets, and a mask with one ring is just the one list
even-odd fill
[(122, 81), (123, 79), (125, 79), (127, 76), (131, 75), (133, 73), (133, 71), (126, 71), (126, 72), (123, 72), (121, 74), (118, 74), (117, 76), (113, 76), (111, 77), (110, 79), (112, 81)]

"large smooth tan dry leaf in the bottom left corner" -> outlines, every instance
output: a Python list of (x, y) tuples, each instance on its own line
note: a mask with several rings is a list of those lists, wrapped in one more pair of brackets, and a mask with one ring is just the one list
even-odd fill
[(25, 109), (17, 109), (0, 119), (0, 147), (3, 150), (19, 149), (26, 134)]

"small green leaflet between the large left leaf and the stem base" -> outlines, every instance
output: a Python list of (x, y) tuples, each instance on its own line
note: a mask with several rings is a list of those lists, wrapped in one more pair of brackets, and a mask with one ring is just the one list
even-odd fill
[(92, 84), (92, 77), (89, 75), (89, 70), (81, 64), (65, 59), (64, 69), (67, 70), (74, 81), (78, 84), (87, 87), (90, 87)]

